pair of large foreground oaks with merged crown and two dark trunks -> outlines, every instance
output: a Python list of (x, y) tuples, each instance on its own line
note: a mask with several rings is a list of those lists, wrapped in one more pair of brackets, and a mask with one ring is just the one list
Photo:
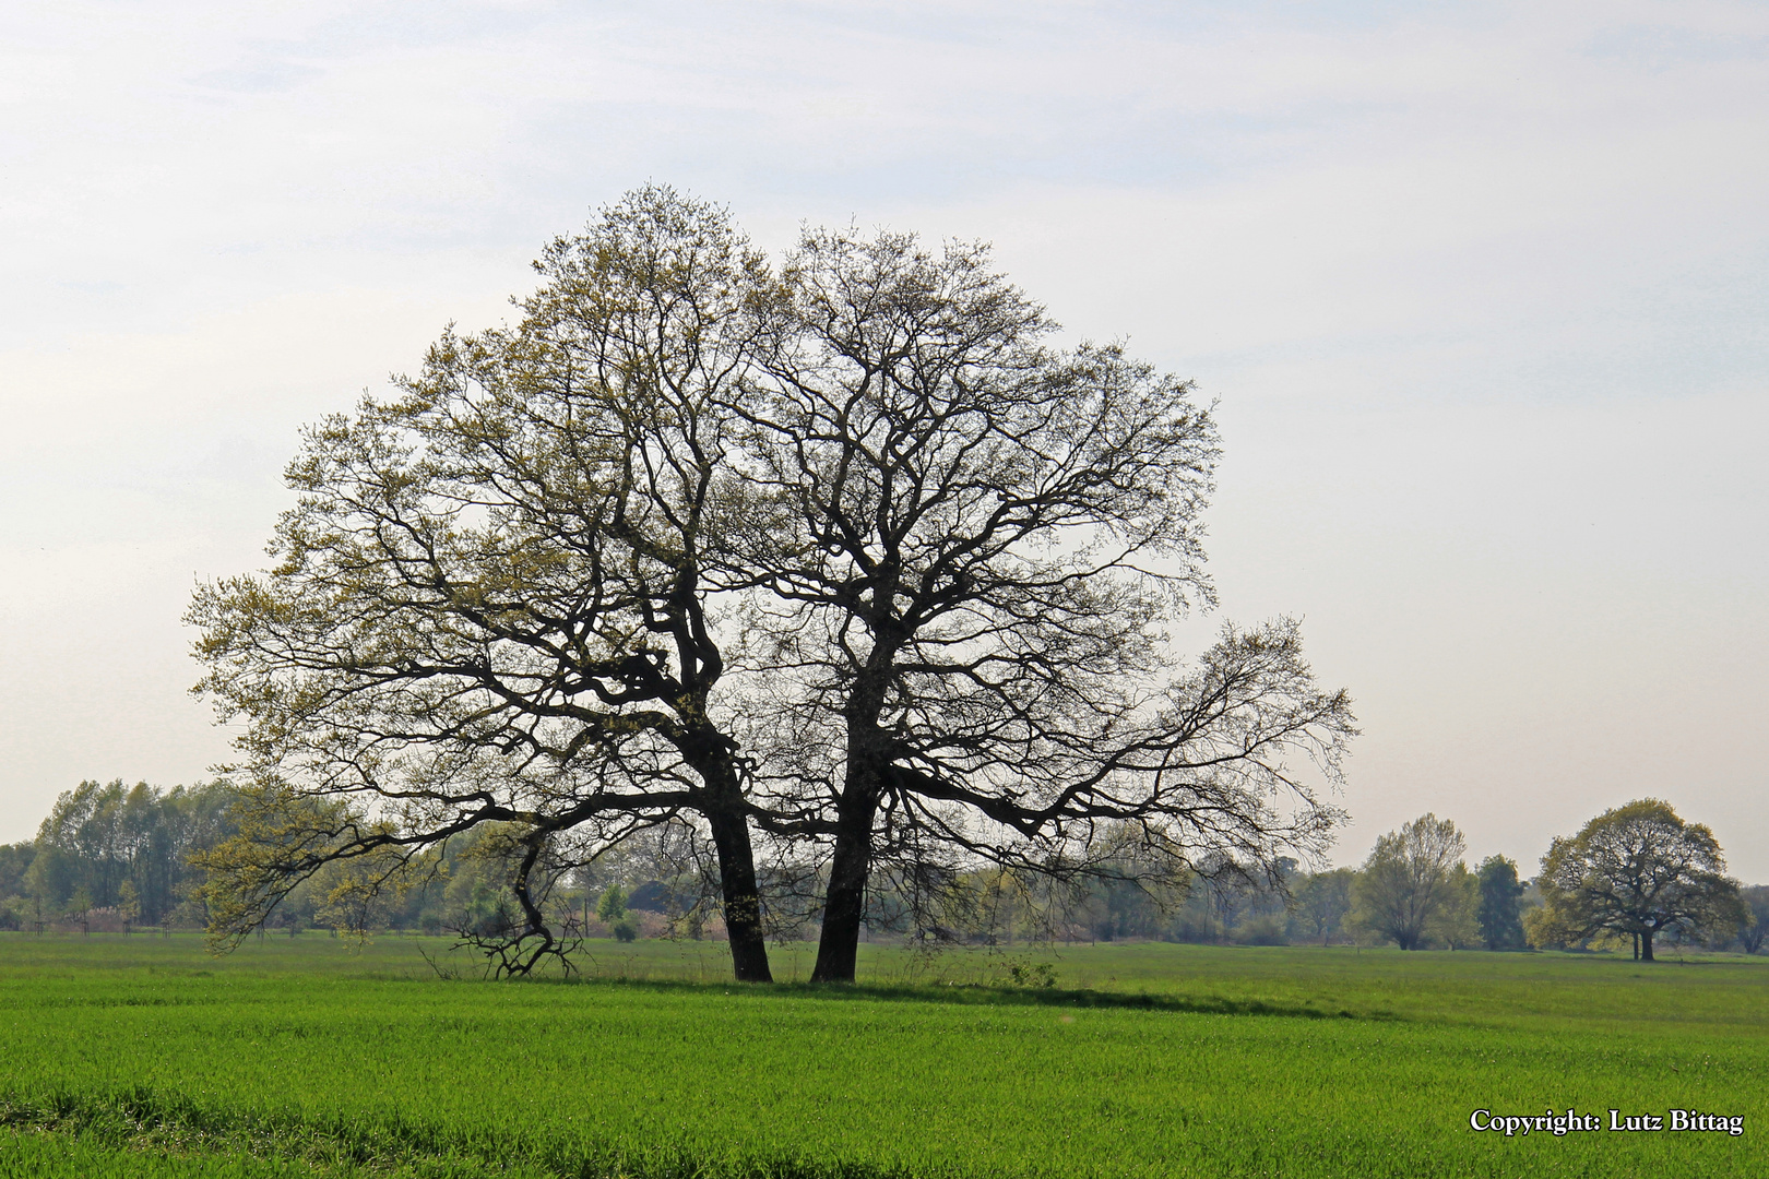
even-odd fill
[(536, 269), (515, 327), (310, 430), (276, 564), (195, 597), (249, 783), (223, 933), (322, 864), (393, 886), (497, 824), (522, 921), (494, 949), (525, 970), (568, 947), (541, 864), (674, 825), (738, 977), (768, 977), (766, 877), (821, 889), (816, 977), (851, 979), (881, 871), (927, 896), (1325, 847), (1352, 714), (1295, 622), (1194, 661), (1168, 636), (1214, 601), (1187, 382), (1054, 346), (982, 246), (807, 230), (773, 269), (665, 187)]

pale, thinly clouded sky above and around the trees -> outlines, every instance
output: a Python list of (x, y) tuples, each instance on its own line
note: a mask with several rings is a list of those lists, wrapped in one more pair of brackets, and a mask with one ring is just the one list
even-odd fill
[(304, 422), (626, 189), (982, 239), (1198, 382), (1228, 619), (1304, 619), (1424, 811), (1532, 871), (1629, 799), (1769, 882), (1769, 5), (12, 0), (0, 841), (228, 758), (200, 582)]

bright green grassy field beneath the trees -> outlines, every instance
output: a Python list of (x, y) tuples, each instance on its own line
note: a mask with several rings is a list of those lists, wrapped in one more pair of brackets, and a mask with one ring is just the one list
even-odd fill
[[(810, 988), (709, 942), (577, 983), (417, 944), (0, 935), (0, 1175), (1769, 1174), (1765, 960), (867, 947)], [(1468, 1128), (1550, 1105), (1744, 1133)]]

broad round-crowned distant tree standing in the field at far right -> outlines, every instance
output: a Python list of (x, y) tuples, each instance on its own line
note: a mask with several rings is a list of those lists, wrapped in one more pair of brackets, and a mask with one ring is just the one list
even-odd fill
[(1599, 933), (1638, 939), (1652, 962), (1661, 933), (1737, 930), (1750, 919), (1714, 833), (1668, 802), (1636, 799), (1603, 811), (1543, 856), (1543, 928), (1564, 942)]

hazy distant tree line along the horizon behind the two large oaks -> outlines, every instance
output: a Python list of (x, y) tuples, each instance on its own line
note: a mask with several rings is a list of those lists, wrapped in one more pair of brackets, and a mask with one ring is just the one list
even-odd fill
[[(157, 790), (83, 781), (62, 794), (37, 840), (0, 845), (0, 928), (127, 932), (203, 928), (205, 852), (235, 831), (242, 797), (225, 781)], [(333, 861), (292, 889), (262, 932), (368, 935), (387, 930), (497, 939), (524, 921), (509, 879), (520, 831), (495, 825), (407, 863), (407, 886), (373, 887), (371, 861)], [(718, 880), (697, 848), (660, 827), (623, 840), (589, 864), (552, 857), (531, 868), (545, 917), (566, 937), (720, 939)], [(913, 946), (1026, 946), (1168, 940), (1240, 946), (1401, 949), (1627, 949), (1654, 946), (1764, 953), (1769, 886), (1719, 873), (1705, 827), (1645, 799), (1604, 811), (1555, 840), (1541, 873), (1488, 856), (1470, 868), (1451, 820), (1424, 815), (1376, 840), (1359, 868), (1272, 871), (1228, 856), (1153, 884), (1130, 841), (1076, 880), (991, 866), (955, 873), (916, 896), (916, 873), (886, 873), (869, 894), (863, 939)], [(770, 932), (814, 937), (816, 887), (762, 875), (777, 898)], [(798, 882), (803, 884), (803, 882)], [(794, 900), (796, 898), (796, 900)]]

